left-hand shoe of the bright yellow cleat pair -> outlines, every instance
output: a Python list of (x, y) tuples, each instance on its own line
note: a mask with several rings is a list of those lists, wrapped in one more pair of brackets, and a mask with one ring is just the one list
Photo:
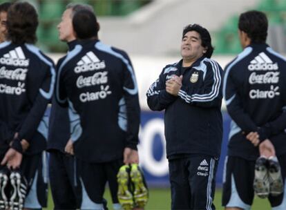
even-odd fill
[(130, 180), (128, 173), (129, 170), (129, 166), (124, 165), (120, 167), (120, 170), (117, 173), (117, 198), (124, 210), (133, 209), (133, 196), (130, 189)]

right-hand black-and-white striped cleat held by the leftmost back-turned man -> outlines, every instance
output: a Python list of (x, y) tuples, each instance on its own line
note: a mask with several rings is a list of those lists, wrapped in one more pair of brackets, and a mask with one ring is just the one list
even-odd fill
[(10, 195), (10, 210), (23, 209), (24, 200), (27, 192), (26, 178), (21, 175), (19, 171), (12, 171), (10, 173), (11, 195)]

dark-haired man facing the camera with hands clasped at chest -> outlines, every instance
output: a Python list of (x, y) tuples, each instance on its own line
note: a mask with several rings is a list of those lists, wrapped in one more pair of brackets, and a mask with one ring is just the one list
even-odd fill
[(211, 36), (198, 24), (182, 33), (178, 63), (167, 65), (147, 92), (151, 110), (164, 110), (172, 209), (215, 209), (222, 142), (222, 68)]

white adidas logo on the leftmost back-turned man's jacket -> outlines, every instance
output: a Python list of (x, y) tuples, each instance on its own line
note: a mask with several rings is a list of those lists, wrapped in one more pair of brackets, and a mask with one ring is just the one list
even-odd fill
[(10, 50), (9, 53), (0, 58), (0, 64), (10, 66), (29, 66), (29, 59), (26, 59), (21, 47)]

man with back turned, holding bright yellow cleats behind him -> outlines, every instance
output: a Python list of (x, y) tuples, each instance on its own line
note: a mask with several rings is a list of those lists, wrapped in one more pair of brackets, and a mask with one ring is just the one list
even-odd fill
[(79, 45), (59, 66), (56, 99), (69, 109), (71, 135), (65, 151), (77, 158), (80, 208), (103, 209), (108, 182), (113, 209), (121, 209), (117, 172), (123, 164), (139, 161), (135, 75), (124, 51), (98, 40), (99, 24), (93, 12), (76, 12), (73, 28)]

